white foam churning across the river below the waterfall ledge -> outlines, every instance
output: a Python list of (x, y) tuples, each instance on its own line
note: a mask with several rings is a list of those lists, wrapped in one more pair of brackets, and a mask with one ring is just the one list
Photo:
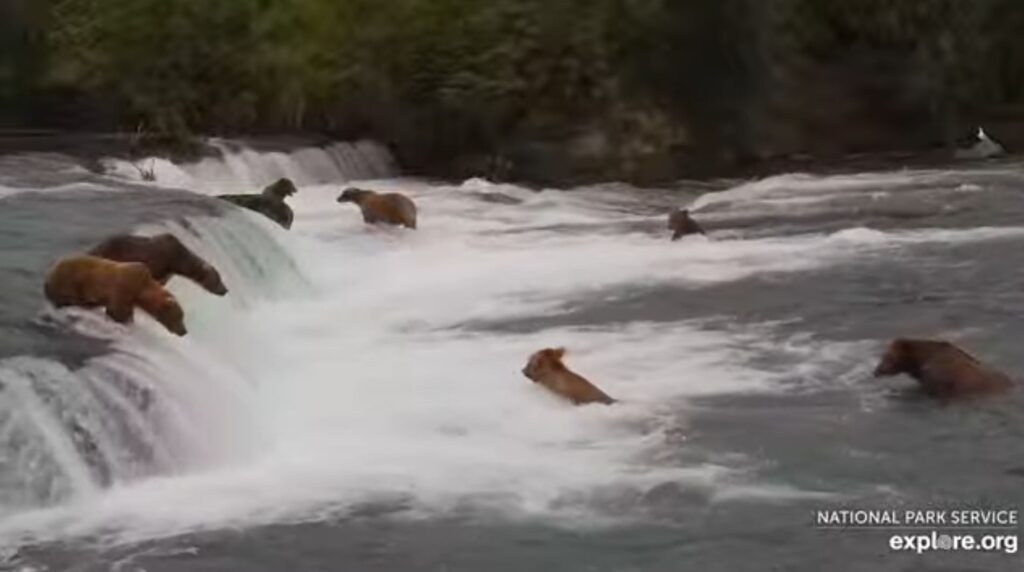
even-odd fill
[[(141, 332), (123, 340), (132, 346), (103, 359), (142, 354), (179, 396), (175, 431), (187, 445), (191, 424), (209, 446), (184, 447), (198, 450), (184, 474), (14, 515), (0, 523), (0, 543), (99, 532), (130, 540), (387, 500), (427, 514), (470, 502), (561, 518), (590, 515), (573, 499), (596, 491), (662, 483), (698, 483), (720, 501), (813, 496), (784, 483), (737, 483), (721, 467), (663, 460), (672, 456), (665, 434), (678, 430), (688, 399), (776, 390), (780, 373), (745, 365), (757, 347), (749, 332), (691, 322), (521, 334), (460, 326), (550, 317), (632, 288), (707, 288), (843, 264), (879, 249), (1024, 234), (851, 228), (670, 243), (609, 230), (624, 218), (622, 205), (603, 203), (600, 191), (398, 179), (368, 186), (413, 196), (420, 228), (367, 226), (354, 206), (335, 202), (339, 185), (326, 184), (290, 199), (291, 233), (242, 212), (189, 228), (143, 229), (184, 236), (221, 269), (231, 294), (215, 299), (175, 278), (189, 336), (168, 339), (142, 320)], [(522, 203), (487, 203), (475, 191)], [(520, 369), (546, 346), (566, 346), (568, 364), (623, 402), (572, 407), (530, 384)]]

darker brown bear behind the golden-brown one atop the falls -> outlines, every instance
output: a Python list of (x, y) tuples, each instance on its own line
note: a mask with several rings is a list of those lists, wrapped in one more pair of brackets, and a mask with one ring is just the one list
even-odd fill
[(115, 262), (141, 262), (150, 269), (154, 279), (162, 284), (166, 284), (172, 274), (177, 274), (193, 280), (211, 294), (227, 294), (227, 288), (220, 279), (220, 272), (188, 250), (174, 234), (118, 234), (100, 243), (89, 254)]

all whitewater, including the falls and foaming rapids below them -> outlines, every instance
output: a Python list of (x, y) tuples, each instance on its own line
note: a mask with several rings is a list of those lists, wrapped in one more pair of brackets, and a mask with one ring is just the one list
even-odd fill
[[(395, 177), (379, 151), (355, 147), (351, 152), (374, 158), (352, 159), (355, 167), (337, 153), (310, 159), (314, 152), (299, 163), (251, 150), (190, 166), (152, 160), (154, 192), (255, 190), (293, 177), (300, 185), (290, 200), (294, 228), (286, 232), (240, 210), (140, 225), (142, 233), (181, 237), (221, 270), (230, 294), (214, 298), (172, 280), (189, 327), (180, 340), (147, 317), (124, 327), (94, 312), (52, 315), (112, 341), (112, 351), (75, 372), (31, 357), (5, 363), (4, 383), (20, 388), (19, 406), (36, 415), (24, 423), (49, 432), (43, 442), (58, 467), (50, 492), (59, 494), (7, 509), (0, 542), (131, 541), (368, 507), (411, 518), (470, 510), (581, 526), (642, 519), (623, 499), (666, 485), (722, 501), (834, 497), (752, 480), (742, 459), (681, 460), (676, 453), (685, 445), (691, 399), (783, 391), (779, 381), (793, 371), (759, 368), (752, 356), (786, 354), (802, 363), (804, 378), (835, 382), (822, 371), (853, 362), (864, 344), (798, 339), (780, 346), (762, 335), (770, 323), (730, 320), (515, 324), (557, 321), (637, 289), (697, 292), (876, 256), (909, 260), (920, 245), (1024, 237), (1024, 227), (854, 225), (786, 235), (730, 230), (671, 244), (665, 209), (691, 197), (435, 184)], [(111, 164), (109, 176), (138, 175)], [(945, 184), (936, 173), (885, 176), (894, 185)], [(840, 192), (878, 192), (885, 183), (879, 177), (777, 179), (703, 195), (692, 207), (713, 223), (779, 205), (812, 209), (835, 204)], [(365, 225), (354, 207), (335, 203), (350, 184), (409, 194), (420, 228)], [(951, 195), (964, 192), (948, 186)], [(565, 346), (570, 366), (622, 403), (571, 407), (530, 384), (520, 369), (547, 346)], [(848, 369), (840, 383), (865, 367)], [(119, 376), (144, 380), (154, 404), (125, 402), (111, 387)], [(132, 425), (127, 434), (142, 443), (119, 442), (124, 431), (106, 431), (110, 442), (99, 447), (115, 459), (113, 483), (90, 477), (74, 458), (59, 420), (44, 419), (52, 410), (34, 401), (31, 377), (52, 378), (65, 390), (86, 380), (119, 407), (119, 419)], [(68, 406), (87, 408), (82, 402)], [(82, 419), (101, 435), (97, 411)], [(133, 465), (136, 449), (144, 464)]]

